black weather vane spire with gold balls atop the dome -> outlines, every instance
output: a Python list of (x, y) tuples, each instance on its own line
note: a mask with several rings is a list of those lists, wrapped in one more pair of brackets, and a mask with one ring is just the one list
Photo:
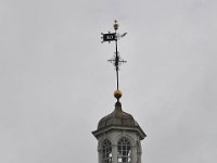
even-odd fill
[(102, 42), (107, 41), (108, 43), (111, 41), (115, 41), (115, 54), (113, 55), (112, 59), (107, 60), (108, 62), (113, 63), (113, 65), (115, 66), (115, 71), (116, 71), (116, 80), (117, 80), (117, 90), (115, 91), (114, 96), (117, 99), (117, 101), (119, 101), (119, 98), (122, 97), (122, 91), (119, 90), (119, 66), (123, 63), (126, 63), (127, 61), (123, 60), (122, 57), (119, 55), (119, 52), (117, 50), (117, 40), (119, 40), (122, 37), (124, 37), (125, 35), (127, 35), (127, 33), (124, 33), (123, 35), (117, 33), (117, 29), (119, 27), (119, 25), (117, 24), (117, 21), (115, 20), (115, 23), (113, 25), (115, 32), (114, 33), (107, 33), (107, 34), (102, 34)]

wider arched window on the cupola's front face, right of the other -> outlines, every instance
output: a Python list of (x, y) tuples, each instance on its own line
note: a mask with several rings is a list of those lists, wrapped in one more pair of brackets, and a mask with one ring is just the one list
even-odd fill
[(129, 163), (131, 161), (131, 147), (127, 138), (122, 138), (117, 143), (118, 163)]

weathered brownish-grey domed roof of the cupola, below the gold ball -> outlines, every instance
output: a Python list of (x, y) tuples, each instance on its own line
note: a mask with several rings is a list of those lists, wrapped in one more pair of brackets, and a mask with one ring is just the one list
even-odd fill
[(130, 127), (138, 127), (138, 123), (135, 121), (132, 115), (123, 112), (122, 103), (115, 103), (115, 110), (100, 120), (98, 124), (98, 129), (104, 128), (110, 125), (118, 125), (118, 126), (130, 126)]

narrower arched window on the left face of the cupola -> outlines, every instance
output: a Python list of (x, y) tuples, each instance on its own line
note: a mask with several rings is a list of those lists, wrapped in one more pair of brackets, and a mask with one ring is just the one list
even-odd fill
[(103, 142), (103, 162), (112, 162), (112, 143), (110, 140), (105, 139)]

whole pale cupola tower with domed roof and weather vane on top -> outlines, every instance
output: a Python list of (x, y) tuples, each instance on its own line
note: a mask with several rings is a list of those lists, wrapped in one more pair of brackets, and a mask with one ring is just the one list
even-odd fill
[(103, 41), (115, 41), (116, 52), (114, 59), (108, 60), (116, 67), (117, 90), (114, 97), (117, 99), (114, 111), (100, 120), (98, 129), (92, 131), (98, 139), (99, 163), (141, 163), (141, 140), (146, 136), (132, 115), (122, 109), (119, 101), (122, 91), (118, 89), (118, 70), (122, 60), (117, 51), (117, 40), (119, 35), (116, 33), (118, 24), (115, 21), (115, 33), (102, 34)]

